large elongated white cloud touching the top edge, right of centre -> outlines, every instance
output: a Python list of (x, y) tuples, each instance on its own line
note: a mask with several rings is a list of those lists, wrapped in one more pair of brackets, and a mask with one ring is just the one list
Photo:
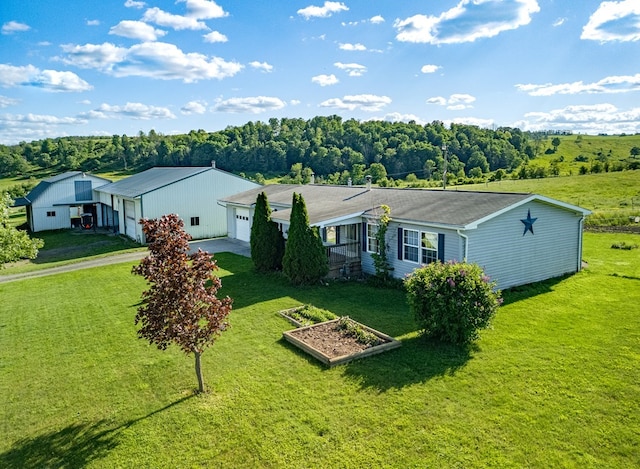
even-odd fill
[(539, 11), (536, 0), (461, 0), (440, 16), (414, 15), (393, 26), (398, 41), (457, 44), (527, 25)]

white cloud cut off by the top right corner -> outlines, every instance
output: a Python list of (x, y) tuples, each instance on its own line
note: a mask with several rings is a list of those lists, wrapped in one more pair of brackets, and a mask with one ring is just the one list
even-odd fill
[(600, 42), (640, 40), (640, 3), (638, 0), (602, 2), (582, 29), (580, 39)]

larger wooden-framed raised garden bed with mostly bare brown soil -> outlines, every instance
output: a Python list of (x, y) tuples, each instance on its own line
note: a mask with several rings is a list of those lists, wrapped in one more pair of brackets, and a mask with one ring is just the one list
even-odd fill
[[(294, 308), (295, 309), (295, 308)], [(290, 310), (287, 310), (290, 311)], [(294, 324), (296, 320), (280, 314)], [(338, 318), (283, 333), (285, 340), (329, 367), (400, 347), (402, 343), (349, 318)]]

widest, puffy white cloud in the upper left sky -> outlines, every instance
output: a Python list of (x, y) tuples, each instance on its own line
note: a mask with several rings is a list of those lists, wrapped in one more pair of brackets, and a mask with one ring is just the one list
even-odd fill
[(222, 79), (235, 75), (243, 66), (220, 57), (200, 53), (185, 53), (174, 44), (145, 42), (130, 48), (113, 44), (64, 45), (65, 63), (82, 68), (94, 68), (117, 77), (140, 76), (159, 80)]

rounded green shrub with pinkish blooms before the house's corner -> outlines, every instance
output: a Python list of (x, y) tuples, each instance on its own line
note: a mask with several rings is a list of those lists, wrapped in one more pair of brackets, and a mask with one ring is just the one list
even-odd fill
[(477, 264), (434, 262), (414, 270), (404, 284), (424, 334), (453, 344), (476, 340), (502, 304), (496, 282)]

